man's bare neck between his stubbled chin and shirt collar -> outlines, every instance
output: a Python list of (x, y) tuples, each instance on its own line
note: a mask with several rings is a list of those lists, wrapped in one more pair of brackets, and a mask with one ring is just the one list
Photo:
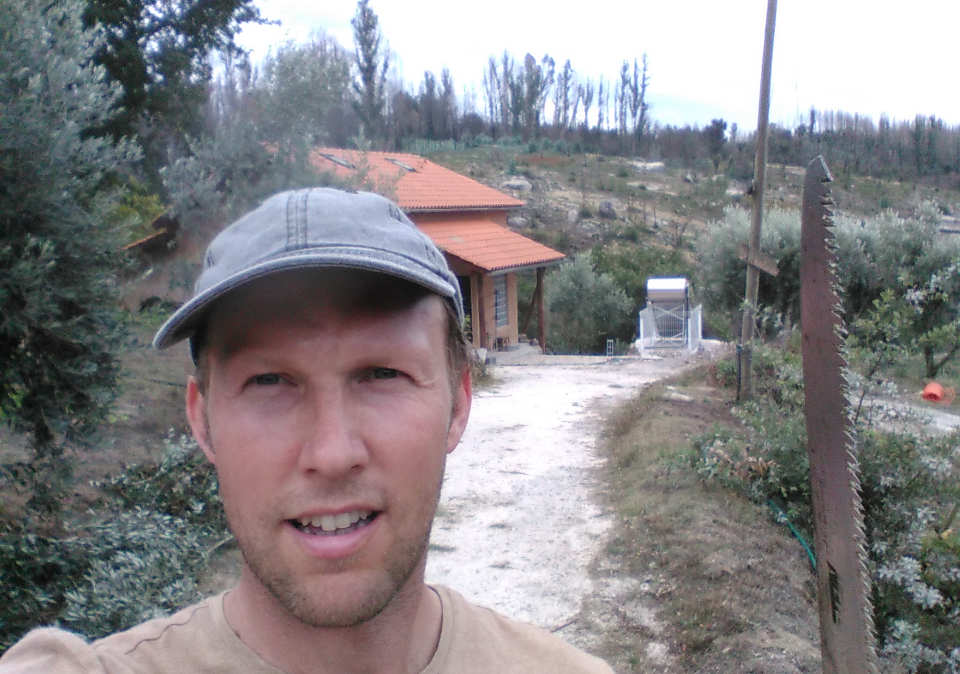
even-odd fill
[(419, 578), (375, 618), (354, 627), (313, 627), (288, 613), (244, 570), (224, 600), (227, 622), (263, 660), (289, 674), (408, 674), (423, 670), (440, 640), (443, 610)]

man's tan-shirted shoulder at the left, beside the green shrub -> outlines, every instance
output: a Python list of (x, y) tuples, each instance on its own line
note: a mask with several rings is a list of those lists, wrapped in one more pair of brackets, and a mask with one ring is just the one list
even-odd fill
[(36, 629), (3, 655), (0, 674), (202, 671), (231, 656), (229, 644), (218, 643), (233, 636), (223, 634), (221, 615), (217, 596), (93, 642), (61, 629)]

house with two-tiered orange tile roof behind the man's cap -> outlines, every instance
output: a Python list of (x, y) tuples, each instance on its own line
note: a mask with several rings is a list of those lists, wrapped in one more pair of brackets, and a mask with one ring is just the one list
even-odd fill
[(517, 273), (534, 270), (531, 307), (538, 311), (543, 346), (544, 270), (564, 255), (507, 227), (508, 214), (522, 201), (414, 154), (317, 148), (311, 162), (393, 199), (433, 239), (460, 280), (470, 338), (478, 348), (517, 343)]

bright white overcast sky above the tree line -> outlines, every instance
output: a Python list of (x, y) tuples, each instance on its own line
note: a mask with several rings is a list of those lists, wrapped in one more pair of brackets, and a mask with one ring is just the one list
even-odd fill
[[(794, 127), (810, 106), (896, 120), (916, 114), (960, 124), (960, 3), (955, 0), (780, 0), (771, 122)], [(280, 26), (251, 26), (240, 44), (254, 61), (322, 29), (353, 48), (356, 0), (258, 0)], [(648, 101), (660, 124), (756, 127), (766, 0), (370, 0), (408, 89), (447, 67), (458, 95), (475, 92), (504, 49), (522, 62), (550, 54), (557, 69), (618, 77), (644, 52)], [(612, 97), (611, 97), (612, 104)], [(591, 116), (596, 114), (594, 103)]]

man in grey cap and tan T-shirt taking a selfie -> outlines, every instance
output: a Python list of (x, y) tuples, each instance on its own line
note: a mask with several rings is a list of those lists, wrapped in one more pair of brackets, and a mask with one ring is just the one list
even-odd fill
[(240, 579), (92, 644), (35, 630), (0, 672), (609, 672), (424, 581), (470, 413), (462, 322), (443, 255), (382, 197), (281, 193), (221, 232), (154, 345), (190, 340)]

